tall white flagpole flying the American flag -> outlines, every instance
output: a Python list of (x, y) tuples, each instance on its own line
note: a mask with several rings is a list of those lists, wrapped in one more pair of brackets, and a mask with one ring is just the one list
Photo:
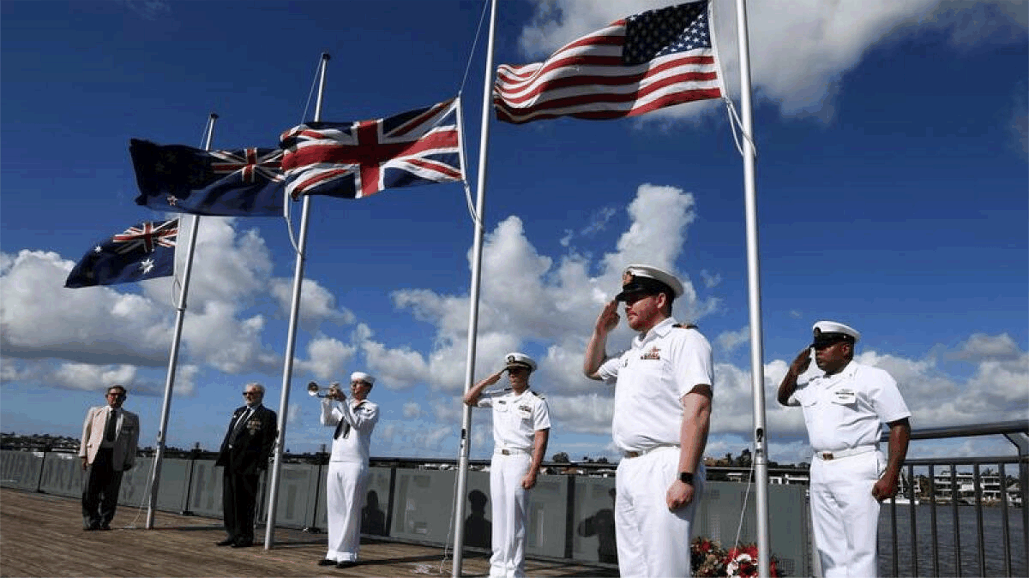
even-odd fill
[(754, 131), (750, 105), (750, 43), (746, 0), (736, 0), (737, 41), (740, 47), (740, 103), (743, 108), (743, 180), (747, 213), (747, 302), (750, 309), (750, 386), (753, 391), (754, 470), (757, 479), (758, 575), (770, 575), (768, 507), (768, 430), (765, 427), (765, 365), (761, 351), (760, 256), (757, 250), (757, 201), (754, 184)]

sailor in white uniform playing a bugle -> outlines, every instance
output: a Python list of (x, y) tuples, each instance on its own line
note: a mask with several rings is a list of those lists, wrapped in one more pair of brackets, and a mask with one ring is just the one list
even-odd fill
[(379, 406), (367, 400), (375, 383), (371, 375), (355, 371), (350, 375), (350, 401), (339, 384), (329, 389), (330, 397), (322, 399), (321, 423), (335, 427), (335, 431), (325, 483), (328, 552), (319, 566), (350, 568), (357, 564), (371, 430), (379, 421)]

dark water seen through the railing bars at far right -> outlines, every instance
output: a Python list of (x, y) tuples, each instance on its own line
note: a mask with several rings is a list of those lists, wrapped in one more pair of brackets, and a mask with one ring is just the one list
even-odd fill
[[(929, 504), (915, 506), (896, 505), (897, 576), (983, 576), (980, 570), (979, 522), (973, 506), (958, 506), (957, 518), (950, 504), (938, 504), (936, 510), (936, 536), (932, 535), (932, 509)], [(879, 572), (881, 576), (893, 573), (893, 529), (889, 503), (879, 515)], [(1025, 539), (1022, 509), (1007, 508), (1007, 543), (1010, 555), (1010, 573), (1005, 569), (1003, 511), (1000, 506), (984, 506), (983, 548), (985, 576), (1029, 576), (1026, 567)], [(912, 520), (915, 541), (912, 544)], [(957, 544), (955, 545), (955, 530)], [(961, 572), (957, 572), (960, 551)], [(917, 552), (917, 554), (916, 554)], [(918, 571), (915, 569), (917, 555)], [(937, 573), (933, 573), (933, 555), (938, 556)]]

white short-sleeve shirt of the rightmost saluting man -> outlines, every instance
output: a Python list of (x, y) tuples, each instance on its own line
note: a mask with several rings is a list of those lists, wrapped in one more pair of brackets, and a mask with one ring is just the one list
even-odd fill
[(788, 403), (804, 409), (815, 451), (879, 443), (883, 424), (911, 417), (893, 377), (856, 361), (839, 373), (797, 384)]

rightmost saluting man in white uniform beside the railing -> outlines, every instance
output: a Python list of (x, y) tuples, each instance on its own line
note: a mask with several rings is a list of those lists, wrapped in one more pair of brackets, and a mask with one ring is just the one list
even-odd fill
[[(805, 348), (779, 385), (779, 403), (800, 405), (815, 449), (811, 461), (811, 521), (822, 575), (879, 576), (879, 503), (897, 492), (908, 455), (911, 411), (896, 382), (853, 361), (861, 334), (835, 321), (812, 327)], [(821, 370), (810, 380), (811, 350)], [(879, 448), (889, 426), (889, 459)]]

